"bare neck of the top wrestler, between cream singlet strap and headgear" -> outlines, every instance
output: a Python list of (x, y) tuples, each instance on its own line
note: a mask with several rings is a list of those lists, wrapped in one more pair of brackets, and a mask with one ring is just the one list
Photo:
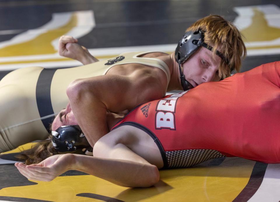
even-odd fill
[(180, 81), (180, 71), (179, 65), (175, 59), (175, 52), (169, 55), (170, 63), (169, 63), (169, 70), (170, 70), (170, 82), (167, 87), (167, 91), (174, 91), (174, 90), (183, 90)]

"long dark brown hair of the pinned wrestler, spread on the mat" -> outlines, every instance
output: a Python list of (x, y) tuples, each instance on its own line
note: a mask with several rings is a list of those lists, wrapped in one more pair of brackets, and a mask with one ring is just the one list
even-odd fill
[(46, 141), (38, 142), (34, 147), (29, 150), (22, 151), (16, 157), (24, 159), (25, 164), (30, 165), (40, 163), (46, 158), (57, 154), (57, 151), (53, 147), (51, 138), (52, 137), (50, 136)]

